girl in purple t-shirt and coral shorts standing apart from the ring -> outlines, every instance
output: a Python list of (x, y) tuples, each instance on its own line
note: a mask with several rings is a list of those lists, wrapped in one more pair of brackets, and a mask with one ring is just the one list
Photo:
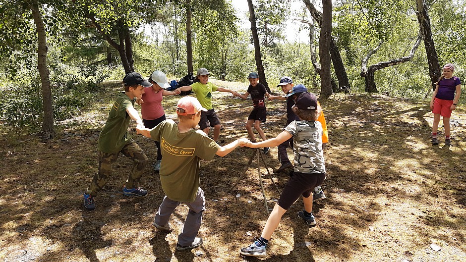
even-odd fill
[[(436, 83), (432, 100), (430, 101), (430, 109), (434, 113), (434, 122), (432, 124), (432, 145), (438, 145), (437, 130), (440, 122), (440, 116), (443, 116), (443, 125), (445, 127), (445, 145), (452, 144), (450, 140), (450, 116), (452, 111), (456, 109), (456, 104), (460, 99), (461, 81), (460, 78), (453, 76), (455, 66), (446, 64), (443, 66), (443, 73), (439, 81)], [(455, 95), (456, 92), (456, 95)]]

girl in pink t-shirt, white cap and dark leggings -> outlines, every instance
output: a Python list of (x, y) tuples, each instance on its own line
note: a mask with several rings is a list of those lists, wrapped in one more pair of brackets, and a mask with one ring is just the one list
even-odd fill
[[(166, 119), (164, 107), (162, 107), (163, 96), (178, 95), (178, 91), (167, 91), (165, 88), (170, 87), (167, 83), (167, 77), (164, 72), (154, 71), (149, 78), (152, 87), (144, 89), (142, 95), (141, 114), (144, 126), (152, 129)], [(154, 164), (155, 172), (160, 171), (160, 162), (162, 154), (160, 153), (160, 143), (154, 141), (157, 146), (157, 161)]]

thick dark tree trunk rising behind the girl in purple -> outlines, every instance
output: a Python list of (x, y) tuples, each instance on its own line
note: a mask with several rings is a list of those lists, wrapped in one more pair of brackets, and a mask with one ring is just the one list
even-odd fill
[(429, 76), (432, 82), (432, 90), (435, 90), (435, 83), (439, 80), (442, 75), (440, 68), (437, 51), (435, 49), (434, 40), (432, 38), (432, 28), (430, 26), (429, 12), (427, 10), (427, 4), (425, 0), (417, 0), (417, 21), (419, 22), (419, 28), (422, 31), (425, 52), (427, 54), (427, 62), (429, 63)]

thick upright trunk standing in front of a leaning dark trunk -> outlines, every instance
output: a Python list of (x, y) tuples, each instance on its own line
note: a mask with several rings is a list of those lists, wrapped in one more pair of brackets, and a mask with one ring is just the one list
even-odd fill
[(328, 98), (333, 94), (330, 72), (330, 50), (332, 34), (332, 0), (322, 0), (322, 26), (320, 28), (319, 57), (321, 96)]

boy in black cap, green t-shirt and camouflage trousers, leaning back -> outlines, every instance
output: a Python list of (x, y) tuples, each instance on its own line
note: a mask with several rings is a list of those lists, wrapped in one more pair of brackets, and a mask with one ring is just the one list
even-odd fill
[(139, 180), (147, 164), (147, 156), (130, 137), (128, 126), (133, 119), (138, 127), (144, 127), (138, 112), (134, 109), (134, 99), (141, 99), (144, 88), (151, 87), (152, 84), (144, 80), (139, 73), (125, 75), (123, 84), (125, 92), (118, 94), (110, 109), (107, 123), (99, 135), (99, 169), (84, 193), (84, 207), (87, 210), (96, 208), (94, 197), (109, 181), (112, 175), (112, 165), (117, 161), (120, 152), (134, 161), (123, 188), (123, 195), (142, 197), (147, 194), (147, 190), (139, 187)]

